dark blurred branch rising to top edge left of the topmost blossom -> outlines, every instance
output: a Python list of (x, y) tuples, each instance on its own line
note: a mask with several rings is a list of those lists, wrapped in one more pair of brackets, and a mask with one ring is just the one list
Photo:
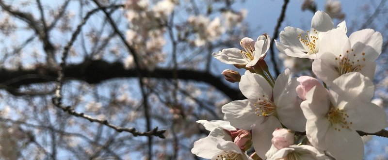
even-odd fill
[(287, 9), (288, 2), (289, 2), (289, 0), (284, 0), (283, 6), (282, 6), (282, 11), (280, 12), (280, 16), (277, 19), (275, 31), (274, 31), (274, 34), (272, 36), (271, 45), (270, 45), (271, 61), (272, 61), (272, 64), (274, 65), (274, 70), (275, 70), (276, 76), (278, 76), (280, 74), (280, 71), (279, 71), (279, 68), (277, 68), (274, 43), (275, 43), (275, 39), (279, 36), (279, 28), (282, 25), (282, 22), (284, 20), (285, 15), (286, 15), (286, 9)]

